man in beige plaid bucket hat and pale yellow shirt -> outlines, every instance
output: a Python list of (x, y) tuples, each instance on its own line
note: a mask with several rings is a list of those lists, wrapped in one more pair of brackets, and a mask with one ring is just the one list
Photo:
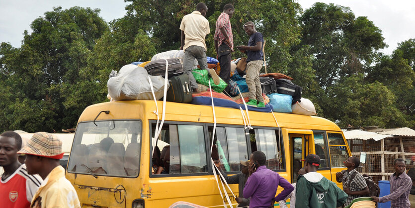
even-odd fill
[(64, 155), (61, 140), (50, 133), (37, 132), (18, 153), (26, 154), (27, 172), (39, 174), (44, 180), (33, 196), (30, 208), (81, 207), (77, 192), (59, 164)]

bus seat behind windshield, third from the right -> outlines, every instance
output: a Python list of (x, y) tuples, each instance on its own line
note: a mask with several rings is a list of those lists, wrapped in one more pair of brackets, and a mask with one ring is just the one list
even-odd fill
[(107, 152), (102, 149), (100, 143), (92, 144), (88, 155), (88, 168), (90, 168), (93, 173), (107, 174), (106, 155)]

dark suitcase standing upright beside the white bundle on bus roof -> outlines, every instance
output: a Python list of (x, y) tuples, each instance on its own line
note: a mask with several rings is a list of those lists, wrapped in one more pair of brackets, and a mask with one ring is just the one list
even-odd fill
[(176, 103), (190, 103), (192, 101), (192, 91), (189, 76), (186, 74), (170, 77), (168, 79), (170, 88), (167, 90), (166, 101)]

